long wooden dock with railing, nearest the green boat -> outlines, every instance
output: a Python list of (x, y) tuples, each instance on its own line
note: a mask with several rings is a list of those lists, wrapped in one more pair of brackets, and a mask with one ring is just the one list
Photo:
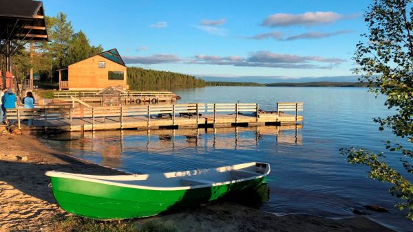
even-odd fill
[[(297, 124), (303, 103), (279, 102), (277, 111), (262, 111), (256, 103), (231, 104), (159, 104), (80, 108), (16, 108), (8, 110), (8, 119), (17, 120), (28, 130), (148, 130), (156, 128), (218, 128)], [(289, 112), (289, 113), (287, 113)], [(293, 113), (290, 113), (293, 112)], [(34, 119), (27, 128), (23, 119)]]

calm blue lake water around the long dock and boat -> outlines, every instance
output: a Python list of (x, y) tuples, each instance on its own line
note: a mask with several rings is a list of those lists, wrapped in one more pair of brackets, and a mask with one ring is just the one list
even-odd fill
[[(271, 163), (270, 199), (260, 209), (273, 213), (309, 213), (341, 218), (361, 209), (386, 226), (408, 231), (413, 222), (394, 208), (397, 198), (388, 185), (366, 177), (368, 169), (350, 165), (340, 148), (362, 146), (383, 150), (389, 131), (379, 132), (372, 117), (390, 115), (383, 97), (362, 88), (207, 87), (176, 91), (185, 102), (257, 102), (275, 111), (276, 102), (304, 102), (302, 126), (124, 130), (72, 133), (59, 137), (76, 141), (45, 140), (81, 159), (133, 173), (173, 172), (235, 163)], [(388, 156), (388, 162), (399, 163)], [(362, 205), (390, 209), (378, 213)]]

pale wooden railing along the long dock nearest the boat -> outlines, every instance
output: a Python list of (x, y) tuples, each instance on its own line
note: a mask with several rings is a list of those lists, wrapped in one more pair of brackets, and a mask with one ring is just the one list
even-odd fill
[[(284, 111), (295, 111), (295, 121), (298, 121), (298, 112), (303, 111), (303, 103), (277, 103), (277, 115)], [(217, 120), (217, 115), (225, 113), (225, 115), (235, 114), (235, 123), (238, 123), (240, 115), (248, 113), (250, 117), (255, 117), (255, 121), (259, 122), (261, 116), (267, 113), (260, 112), (260, 106), (257, 103), (189, 103), (189, 104), (158, 104), (146, 106), (98, 106), (98, 107), (81, 107), (81, 108), (14, 108), (8, 109), (7, 118), (17, 120), (19, 128), (21, 128), (21, 121), (23, 119), (35, 119), (44, 121), (45, 129), (50, 124), (51, 120), (65, 121), (68, 126), (72, 126), (72, 121), (78, 119), (81, 125), (87, 121), (92, 121), (92, 128), (96, 124), (96, 118), (118, 118), (120, 123), (119, 128), (123, 128), (126, 123), (125, 117), (144, 116), (147, 120), (148, 128), (151, 126), (151, 119), (154, 116), (158, 118), (167, 118), (172, 120), (172, 125), (176, 125), (176, 117), (196, 118), (196, 124), (202, 124), (200, 117), (206, 113), (211, 117), (213, 115), (213, 124)], [(111, 121), (114, 121), (112, 120)], [(117, 120), (117, 119), (116, 119)], [(88, 123), (89, 123), (88, 122)]]

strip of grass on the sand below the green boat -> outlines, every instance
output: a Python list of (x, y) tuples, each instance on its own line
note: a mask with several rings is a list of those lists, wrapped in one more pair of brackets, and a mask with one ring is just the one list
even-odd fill
[(100, 221), (88, 218), (81, 218), (67, 214), (59, 214), (54, 218), (53, 231), (154, 231), (173, 232), (176, 227), (169, 222), (159, 222), (158, 220), (114, 220)]

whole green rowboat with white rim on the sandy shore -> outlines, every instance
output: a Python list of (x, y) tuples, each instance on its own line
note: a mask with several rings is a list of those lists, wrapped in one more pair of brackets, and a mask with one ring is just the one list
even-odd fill
[(93, 176), (48, 171), (59, 206), (99, 220), (142, 218), (209, 202), (262, 185), (268, 163), (184, 172)]

